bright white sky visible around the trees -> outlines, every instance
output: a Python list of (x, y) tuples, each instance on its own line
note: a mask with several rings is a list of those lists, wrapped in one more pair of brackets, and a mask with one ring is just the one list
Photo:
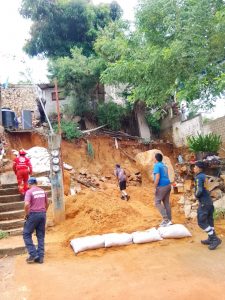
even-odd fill
[[(36, 0), (34, 0), (36, 1)], [(93, 0), (95, 4), (109, 3), (111, 0)], [(135, 6), (138, 0), (117, 0), (124, 12), (124, 18), (134, 20)], [(48, 82), (46, 60), (29, 58), (23, 52), (25, 40), (29, 38), (31, 22), (19, 14), (21, 0), (1, 0), (0, 8), (0, 83), (17, 83), (25, 79), (21, 73), (32, 74), (35, 83)], [(219, 100), (213, 113), (208, 117), (220, 117), (225, 114), (225, 102)]]

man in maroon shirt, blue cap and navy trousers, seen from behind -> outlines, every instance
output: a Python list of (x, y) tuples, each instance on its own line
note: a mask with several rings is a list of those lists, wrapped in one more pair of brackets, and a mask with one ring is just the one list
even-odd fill
[[(44, 239), (45, 239), (45, 223), (46, 211), (49, 206), (48, 198), (43, 189), (37, 186), (37, 180), (30, 177), (28, 180), (29, 190), (25, 194), (25, 223), (23, 229), (23, 239), (26, 245), (29, 257), (27, 263), (43, 263), (44, 262)], [(38, 240), (38, 248), (36, 249), (32, 234), (36, 231)]]

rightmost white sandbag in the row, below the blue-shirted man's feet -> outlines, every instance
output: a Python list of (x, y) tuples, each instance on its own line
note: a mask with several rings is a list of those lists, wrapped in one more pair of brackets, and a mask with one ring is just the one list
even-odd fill
[(174, 224), (167, 227), (159, 227), (159, 234), (164, 239), (180, 239), (183, 237), (190, 237), (191, 233), (182, 224)]

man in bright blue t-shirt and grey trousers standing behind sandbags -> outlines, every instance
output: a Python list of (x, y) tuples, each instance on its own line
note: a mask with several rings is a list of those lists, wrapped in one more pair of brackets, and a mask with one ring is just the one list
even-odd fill
[(153, 174), (155, 186), (155, 206), (163, 217), (163, 221), (160, 226), (165, 227), (172, 225), (170, 207), (171, 185), (168, 176), (168, 168), (162, 160), (162, 154), (156, 153)]

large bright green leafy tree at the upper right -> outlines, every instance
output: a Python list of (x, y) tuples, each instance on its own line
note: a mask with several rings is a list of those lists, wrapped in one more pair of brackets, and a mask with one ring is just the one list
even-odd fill
[(118, 28), (109, 39), (110, 26), (95, 44), (107, 61), (101, 78), (131, 86), (131, 101), (159, 107), (176, 92), (208, 108), (224, 90), (223, 0), (140, 0), (135, 32)]

